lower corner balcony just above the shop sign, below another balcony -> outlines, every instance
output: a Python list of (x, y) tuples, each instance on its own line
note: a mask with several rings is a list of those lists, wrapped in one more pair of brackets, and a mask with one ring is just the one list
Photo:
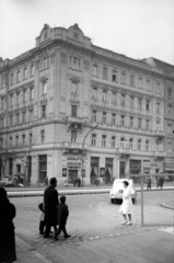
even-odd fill
[(82, 153), (82, 151), (86, 151), (89, 149), (88, 145), (83, 145), (80, 142), (63, 142), (63, 153), (72, 152), (72, 153)]

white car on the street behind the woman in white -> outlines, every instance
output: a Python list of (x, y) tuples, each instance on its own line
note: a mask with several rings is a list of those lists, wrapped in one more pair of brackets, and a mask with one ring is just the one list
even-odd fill
[[(111, 203), (115, 203), (117, 201), (123, 201), (123, 193), (124, 193), (124, 184), (123, 182), (127, 181), (129, 182), (128, 179), (116, 179), (113, 183), (113, 187), (109, 192), (109, 198), (111, 198)], [(132, 198), (132, 203), (136, 203), (136, 198), (137, 198), (137, 192), (136, 188), (132, 185), (132, 193), (131, 193), (131, 198)]]

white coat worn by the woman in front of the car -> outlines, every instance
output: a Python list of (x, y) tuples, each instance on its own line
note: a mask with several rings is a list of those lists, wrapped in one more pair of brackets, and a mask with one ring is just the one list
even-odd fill
[(129, 185), (124, 190), (124, 193), (123, 193), (123, 204), (120, 206), (119, 211), (124, 215), (132, 214), (131, 191), (132, 191), (132, 180), (129, 181)]

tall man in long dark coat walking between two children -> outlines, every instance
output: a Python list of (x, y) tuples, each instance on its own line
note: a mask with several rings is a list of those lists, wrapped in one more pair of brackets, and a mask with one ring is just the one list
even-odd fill
[(57, 230), (56, 206), (59, 204), (58, 192), (56, 190), (57, 179), (50, 179), (50, 185), (44, 192), (44, 208), (45, 208), (45, 235), (44, 238), (49, 238), (51, 226)]

